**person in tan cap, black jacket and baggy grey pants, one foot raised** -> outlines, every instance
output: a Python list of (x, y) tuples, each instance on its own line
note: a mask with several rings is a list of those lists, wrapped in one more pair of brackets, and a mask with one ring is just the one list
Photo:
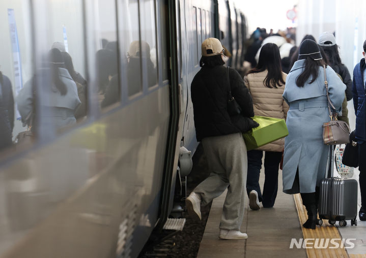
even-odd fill
[[(259, 124), (254, 116), (249, 90), (239, 73), (223, 67), (223, 47), (218, 39), (202, 43), (201, 70), (191, 84), (196, 138), (207, 156), (210, 176), (193, 189), (186, 200), (189, 214), (201, 219), (200, 204), (228, 189), (219, 225), (221, 239), (246, 239), (240, 232), (244, 216), (245, 181), (247, 173), (246, 146), (242, 133)], [(229, 115), (229, 91), (241, 108), (240, 114)]]

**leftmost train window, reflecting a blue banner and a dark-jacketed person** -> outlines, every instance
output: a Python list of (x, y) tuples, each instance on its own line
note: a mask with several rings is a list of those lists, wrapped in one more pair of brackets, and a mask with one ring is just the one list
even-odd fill
[(22, 117), (15, 105), (23, 82), (32, 78), (34, 67), (29, 2), (3, 0), (0, 10), (0, 157), (3, 157), (28, 148), (35, 141), (31, 127), (25, 123), (25, 115)]

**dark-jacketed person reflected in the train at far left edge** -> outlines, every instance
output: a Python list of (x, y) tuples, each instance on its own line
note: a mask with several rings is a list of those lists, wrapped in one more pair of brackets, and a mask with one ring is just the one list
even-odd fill
[(11, 82), (0, 72), (0, 150), (12, 145), (14, 98)]

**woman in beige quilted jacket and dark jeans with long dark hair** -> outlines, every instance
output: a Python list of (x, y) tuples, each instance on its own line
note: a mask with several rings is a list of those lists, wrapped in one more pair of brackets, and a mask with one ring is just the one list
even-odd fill
[[(281, 59), (277, 45), (263, 45), (257, 67), (244, 77), (253, 100), (255, 115), (286, 119), (289, 106), (282, 98), (287, 74), (281, 71)], [(249, 207), (259, 210), (259, 203), (264, 208), (271, 208), (277, 196), (278, 166), (284, 150), (285, 138), (279, 139), (248, 154), (248, 174), (246, 191), (249, 196)], [(263, 151), (265, 181), (263, 194), (259, 186), (259, 174), (262, 168)]]

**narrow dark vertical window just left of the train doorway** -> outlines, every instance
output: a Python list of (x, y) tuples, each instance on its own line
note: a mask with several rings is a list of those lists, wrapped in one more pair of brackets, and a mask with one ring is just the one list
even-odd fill
[[(168, 31), (169, 29), (167, 28), (167, 20), (168, 20), (168, 15), (167, 15), (167, 5), (163, 5), (163, 4), (159, 4), (160, 6), (160, 37), (161, 37), (161, 50), (162, 50), (162, 60), (161, 60), (161, 64), (162, 64), (162, 79), (163, 81), (168, 79), (168, 53), (167, 53), (167, 37), (166, 37), (166, 31)], [(180, 22), (180, 19), (179, 19)], [(180, 27), (180, 26), (179, 26)], [(181, 42), (181, 39), (180, 39)], [(180, 51), (182, 52), (182, 51)]]

